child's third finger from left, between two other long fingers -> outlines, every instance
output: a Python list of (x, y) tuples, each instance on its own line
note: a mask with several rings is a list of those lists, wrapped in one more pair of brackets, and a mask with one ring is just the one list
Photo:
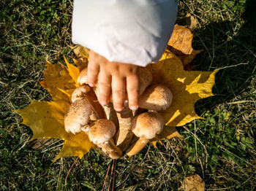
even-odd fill
[(114, 109), (117, 112), (121, 112), (124, 109), (125, 78), (113, 76), (111, 85)]

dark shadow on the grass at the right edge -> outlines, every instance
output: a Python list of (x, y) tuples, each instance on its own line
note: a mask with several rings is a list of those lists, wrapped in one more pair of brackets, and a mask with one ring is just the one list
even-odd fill
[[(193, 47), (204, 51), (192, 65), (196, 70), (221, 69), (216, 77), (216, 96), (197, 102), (197, 113), (211, 110), (218, 104), (230, 102), (242, 95), (255, 75), (256, 63), (256, 12), (253, 1), (247, 1), (239, 26), (229, 21), (211, 23), (203, 31), (196, 31)], [(243, 96), (241, 96), (241, 99)]]

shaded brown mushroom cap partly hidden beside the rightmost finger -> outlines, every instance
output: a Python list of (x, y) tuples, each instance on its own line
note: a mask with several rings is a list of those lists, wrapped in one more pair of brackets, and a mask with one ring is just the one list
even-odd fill
[(139, 93), (141, 95), (146, 89), (146, 87), (148, 87), (148, 85), (151, 85), (153, 81), (153, 77), (151, 72), (145, 67), (139, 67), (139, 77), (140, 77)]

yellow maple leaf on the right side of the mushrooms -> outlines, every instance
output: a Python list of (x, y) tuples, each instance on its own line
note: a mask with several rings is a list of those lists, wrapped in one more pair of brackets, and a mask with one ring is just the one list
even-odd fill
[(165, 52), (158, 63), (147, 68), (153, 74), (155, 84), (169, 87), (173, 93), (171, 106), (162, 112), (165, 125), (182, 126), (195, 119), (195, 102), (212, 96), (216, 71), (184, 71), (181, 61), (172, 52)]

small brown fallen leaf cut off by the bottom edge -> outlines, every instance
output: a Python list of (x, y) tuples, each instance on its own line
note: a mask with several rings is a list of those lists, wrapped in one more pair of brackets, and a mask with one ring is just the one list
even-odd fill
[(205, 182), (201, 179), (198, 174), (187, 176), (181, 184), (178, 190), (184, 191), (204, 191)]

